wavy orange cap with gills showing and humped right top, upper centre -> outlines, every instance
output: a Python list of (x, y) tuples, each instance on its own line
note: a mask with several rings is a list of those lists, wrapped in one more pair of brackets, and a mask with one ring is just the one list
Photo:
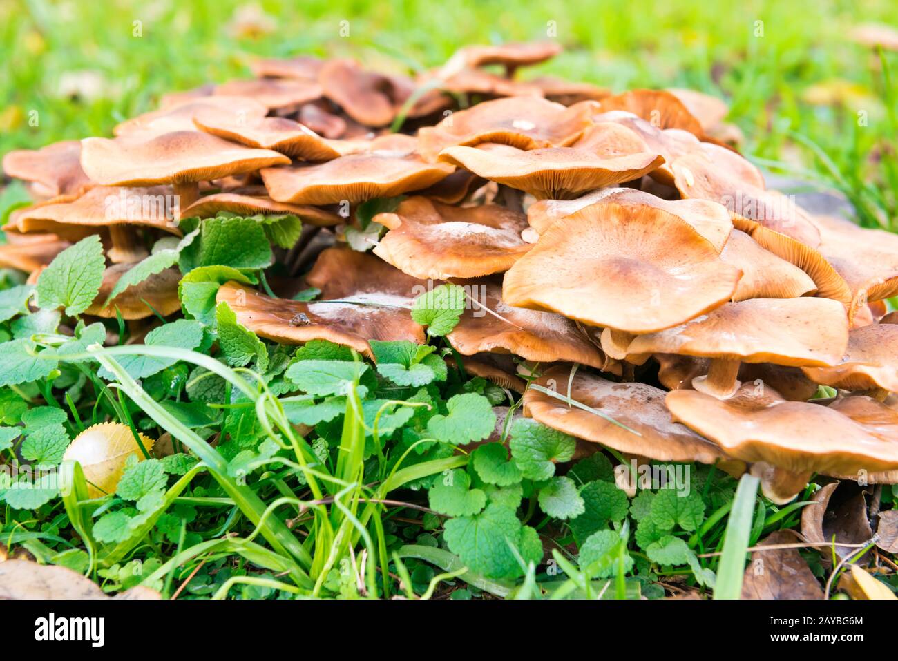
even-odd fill
[(638, 179), (664, 163), (628, 128), (606, 123), (587, 129), (570, 147), (524, 151), (509, 145), (450, 146), (439, 160), (530, 193), (564, 198)]

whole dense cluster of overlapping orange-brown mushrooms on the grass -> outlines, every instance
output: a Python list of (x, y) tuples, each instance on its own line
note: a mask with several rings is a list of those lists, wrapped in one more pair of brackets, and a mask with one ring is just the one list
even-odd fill
[[(152, 323), (180, 311), (177, 269), (105, 302), (179, 226), (153, 205), (110, 214), (111, 198), (292, 214), (304, 230), (269, 269), (276, 296), (217, 293), (260, 337), (373, 357), (369, 339), (425, 341), (409, 304), (458, 284), (470, 309), (446, 339), (463, 369), (524, 392), (549, 427), (638, 461), (751, 471), (778, 503), (817, 473), (898, 482), (898, 236), (767, 189), (716, 98), (515, 75), (558, 50), (462, 48), (416, 79), (259, 60), (255, 78), (168, 95), (113, 138), (6, 154), (40, 201), (4, 226), (0, 266), (33, 280), (100, 234), (88, 314)], [(308, 287), (319, 298), (295, 300)]]

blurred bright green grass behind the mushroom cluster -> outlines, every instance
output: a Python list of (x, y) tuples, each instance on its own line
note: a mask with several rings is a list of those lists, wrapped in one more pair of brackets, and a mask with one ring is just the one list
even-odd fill
[(249, 75), (254, 56), (349, 56), (413, 71), (465, 44), (554, 30), (566, 52), (524, 77), (717, 94), (744, 131), (745, 154), (822, 178), (865, 224), (891, 225), (898, 122), (888, 69), (898, 54), (849, 33), (896, 21), (895, 0), (0, 0), (0, 154), (110, 135), (162, 93)]

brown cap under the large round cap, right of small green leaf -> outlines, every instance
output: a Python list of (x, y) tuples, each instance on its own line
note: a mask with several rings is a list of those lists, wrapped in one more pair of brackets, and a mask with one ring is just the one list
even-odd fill
[(476, 301), (446, 335), (459, 353), (465, 356), (480, 352), (511, 353), (533, 362), (569, 361), (598, 369), (607, 362), (602, 351), (575, 322), (560, 314), (506, 304), (502, 300), (502, 283), (497, 278), (462, 280), (455, 284), (464, 286)]

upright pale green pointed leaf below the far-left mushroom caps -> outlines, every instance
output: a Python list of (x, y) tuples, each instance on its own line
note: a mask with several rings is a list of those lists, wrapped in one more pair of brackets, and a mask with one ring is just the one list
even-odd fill
[(45, 310), (83, 313), (100, 292), (106, 259), (99, 234), (91, 234), (60, 252), (38, 278), (38, 304)]

